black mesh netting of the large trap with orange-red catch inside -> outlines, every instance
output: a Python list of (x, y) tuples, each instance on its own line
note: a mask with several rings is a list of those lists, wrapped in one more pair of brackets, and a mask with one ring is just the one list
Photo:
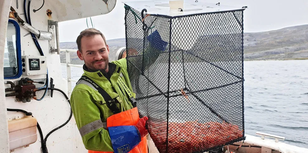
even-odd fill
[(130, 81), (159, 152), (244, 140), (243, 11), (142, 19), (125, 5)]

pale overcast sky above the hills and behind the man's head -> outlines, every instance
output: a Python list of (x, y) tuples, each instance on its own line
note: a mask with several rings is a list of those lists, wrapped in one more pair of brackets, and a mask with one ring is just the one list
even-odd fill
[[(94, 28), (104, 33), (107, 40), (125, 38), (124, 4), (118, 0), (108, 14), (91, 17)], [(308, 0), (199, 0), (208, 3), (243, 7), (244, 32), (270, 31), (308, 24)], [(88, 18), (91, 28), (91, 21)], [(74, 42), (79, 33), (87, 28), (86, 18), (59, 23), (60, 42)]]

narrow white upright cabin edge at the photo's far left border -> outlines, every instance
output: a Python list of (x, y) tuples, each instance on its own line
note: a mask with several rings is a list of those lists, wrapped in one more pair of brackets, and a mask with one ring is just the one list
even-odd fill
[[(8, 13), (10, 12), (11, 0), (0, 3), (0, 69), (3, 69), (4, 46), (6, 29), (8, 25)], [(3, 71), (0, 71), (0, 82), (4, 81)], [(0, 84), (0, 89), (4, 89), (4, 84)], [(6, 100), (4, 90), (0, 91), (0, 152), (8, 153), (8, 121), (6, 113)]]

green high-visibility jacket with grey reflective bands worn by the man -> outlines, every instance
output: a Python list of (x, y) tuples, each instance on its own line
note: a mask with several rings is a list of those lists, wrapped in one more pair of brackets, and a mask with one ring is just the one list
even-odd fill
[[(132, 109), (133, 105), (129, 101), (129, 96), (123, 86), (117, 84), (120, 76), (135, 98), (135, 93), (129, 81), (126, 59), (119, 59), (108, 65), (111, 73), (110, 80), (101, 71), (91, 72), (85, 65), (83, 75), (92, 79), (112, 99), (119, 96), (118, 98), (121, 100), (116, 102), (116, 105), (121, 112)], [(113, 112), (107, 107), (104, 98), (97, 89), (91, 84), (86, 84), (86, 81), (82, 81), (79, 80), (72, 91), (70, 104), (83, 144), (87, 150), (113, 151), (111, 140), (106, 130), (107, 118), (113, 115)]]

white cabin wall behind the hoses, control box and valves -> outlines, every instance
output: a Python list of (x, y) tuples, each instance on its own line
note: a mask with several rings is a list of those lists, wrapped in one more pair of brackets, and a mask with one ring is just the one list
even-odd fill
[[(28, 1), (27, 1), (28, 2)], [(32, 26), (38, 30), (48, 31), (48, 20), (58, 21), (57, 16), (61, 16), (56, 14), (55, 8), (57, 6), (51, 6), (48, 1), (45, 1), (44, 6), (34, 13), (33, 9), (38, 9), (42, 5), (42, 0), (32, 0), (30, 5), (30, 15), (31, 15), (31, 23)], [(17, 11), (20, 18), (25, 20), (23, 15), (23, 1), (19, 1), (19, 8), (16, 8), (16, 1), (12, 1), (12, 7)], [(27, 9), (27, 6), (26, 6)], [(48, 17), (46, 14), (46, 10), (50, 9), (52, 11), (52, 17)], [(22, 15), (20, 15), (22, 14)], [(17, 19), (15, 19), (17, 21)], [(2, 23), (2, 22), (1, 22)], [(21, 37), (21, 53), (23, 55), (40, 55), (31, 35), (25, 34), (29, 33), (29, 31), (20, 27), (20, 37)], [(60, 65), (60, 57), (58, 54), (49, 54), (49, 43), (48, 40), (38, 39), (38, 42), (43, 50), (45, 56), (47, 56), (47, 68), (48, 68), (48, 76), (53, 78), (53, 84), (55, 84), (55, 88), (63, 90), (67, 93), (67, 81), (62, 78), (62, 71)], [(3, 44), (4, 45), (4, 44)], [(4, 48), (4, 47), (3, 47)], [(3, 57), (3, 53), (1, 55)], [(3, 61), (2, 61), (3, 62)], [(2, 68), (3, 69), (3, 68)], [(3, 73), (3, 72), (2, 72)], [(1, 74), (3, 78), (3, 74)], [(45, 79), (46, 75), (36, 75), (36, 76), (24, 76), (22, 75), (20, 78), (29, 77), (30, 79)], [(19, 78), (19, 79), (20, 79)], [(5, 81), (15, 81), (19, 79), (5, 80)], [(50, 82), (50, 80), (49, 80)], [(1, 84), (3, 85), (3, 84)], [(36, 84), (37, 87), (41, 87), (42, 84)], [(9, 85), (5, 85), (5, 88), (8, 88)], [(4, 89), (4, 88), (0, 88)], [(3, 92), (3, 91), (1, 91)], [(1, 94), (2, 95), (2, 94)], [(41, 98), (41, 97), (37, 97)], [(28, 112), (32, 112), (33, 116), (37, 119), (38, 123), (41, 126), (43, 136), (47, 135), (54, 128), (62, 125), (70, 115), (70, 106), (66, 101), (65, 97), (62, 93), (58, 91), (53, 92), (53, 97), (50, 96), (45, 97), (41, 101), (36, 101), (31, 99), (31, 102), (22, 103), (15, 102), (15, 97), (7, 97), (4, 108), (11, 109), (22, 109)], [(2, 102), (0, 108), (2, 109)], [(2, 113), (3, 111), (1, 111)], [(4, 111), (6, 112), (6, 111)], [(14, 118), (18, 119), (24, 117), (23, 113), (19, 112), (8, 112), (7, 120), (12, 120)], [(0, 116), (4, 117), (4, 116)], [(6, 116), (5, 116), (6, 118)], [(6, 120), (6, 126), (7, 126)], [(1, 123), (0, 123), (1, 124)], [(0, 127), (3, 124), (0, 125)], [(32, 153), (41, 153), (41, 139), (38, 133), (37, 141), (34, 144), (31, 144), (29, 147), (21, 147), (15, 149), (14, 152), (32, 152)], [(1, 136), (2, 138), (2, 136)], [(47, 139), (47, 149), (50, 153), (62, 153), (62, 152), (74, 152), (74, 153), (85, 153), (87, 150), (82, 144), (81, 137), (78, 131), (78, 128), (75, 124), (74, 116), (72, 116), (70, 122), (64, 127), (53, 132)], [(13, 152), (13, 153), (14, 153)]]

